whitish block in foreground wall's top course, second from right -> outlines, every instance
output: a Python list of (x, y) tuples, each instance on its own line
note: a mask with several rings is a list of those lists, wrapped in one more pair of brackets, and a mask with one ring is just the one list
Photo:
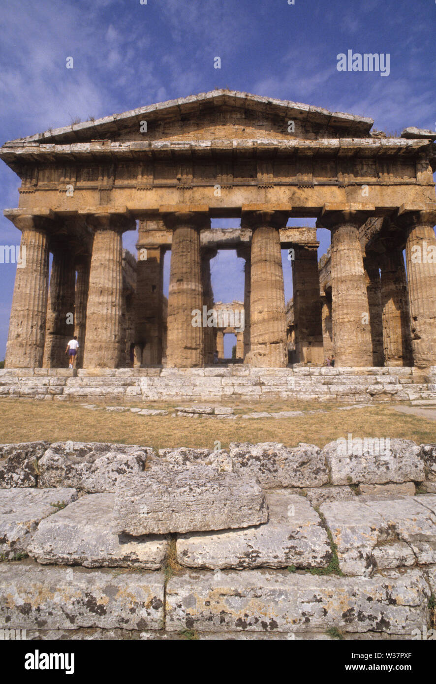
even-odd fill
[[(345, 439), (345, 438), (344, 438)], [(389, 440), (389, 451), (385, 453), (385, 442), (379, 448), (372, 440), (365, 445), (345, 445), (334, 441), (322, 449), (322, 458), (331, 470), (332, 484), (385, 484), (386, 482), (422, 482), (425, 479), (424, 462), (420, 458), (420, 447), (406, 439)], [(346, 453), (352, 451), (356, 453)], [(379, 452), (379, 453), (377, 453)], [(361, 453), (361, 455), (359, 455)]]

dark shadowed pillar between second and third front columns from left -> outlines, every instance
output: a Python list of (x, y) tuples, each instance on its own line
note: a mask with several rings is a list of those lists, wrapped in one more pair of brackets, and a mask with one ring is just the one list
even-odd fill
[(162, 363), (164, 250), (138, 243), (135, 294), (135, 344), (138, 365)]

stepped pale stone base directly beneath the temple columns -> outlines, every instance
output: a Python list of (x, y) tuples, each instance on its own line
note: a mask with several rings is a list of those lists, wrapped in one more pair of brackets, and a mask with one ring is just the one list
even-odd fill
[(409, 401), (436, 398), (436, 367), (196, 369), (3, 369), (0, 397), (36, 399), (241, 400), (302, 399), (320, 402)]

